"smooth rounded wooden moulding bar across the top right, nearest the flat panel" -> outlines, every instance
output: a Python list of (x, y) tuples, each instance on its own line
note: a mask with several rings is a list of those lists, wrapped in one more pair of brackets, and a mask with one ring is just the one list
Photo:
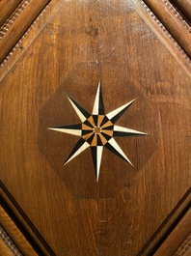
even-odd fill
[(191, 57), (191, 28), (185, 20), (182, 22), (177, 11), (173, 10), (174, 7), (171, 3), (168, 0), (145, 0), (144, 2), (169, 30), (188, 56)]

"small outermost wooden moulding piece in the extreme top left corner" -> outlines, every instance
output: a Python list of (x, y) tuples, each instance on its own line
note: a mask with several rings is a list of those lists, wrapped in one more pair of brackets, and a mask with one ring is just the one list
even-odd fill
[(3, 25), (21, 2), (22, 0), (10, 0), (9, 2), (7, 0), (0, 1), (0, 26)]

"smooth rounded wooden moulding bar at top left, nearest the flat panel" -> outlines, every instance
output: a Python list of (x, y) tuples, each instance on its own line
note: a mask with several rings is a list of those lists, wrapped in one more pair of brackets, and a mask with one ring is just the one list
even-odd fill
[[(41, 13), (45, 5), (49, 0), (33, 0), (30, 1), (21, 14), (14, 20), (14, 23), (4, 34), (0, 41), (0, 63), (6, 58), (9, 52), (14, 47), (15, 43), (21, 38), (21, 36), (30, 27), (36, 17)], [(27, 18), (26, 18), (27, 17)]]

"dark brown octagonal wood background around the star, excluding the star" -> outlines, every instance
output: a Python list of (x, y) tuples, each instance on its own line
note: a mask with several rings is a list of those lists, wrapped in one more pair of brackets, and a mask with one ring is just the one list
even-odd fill
[[(127, 113), (123, 115), (123, 123), (121, 124), (123, 127), (125, 126), (124, 124), (128, 124), (128, 128), (145, 130), (150, 133), (150, 136), (137, 139), (133, 137), (129, 139), (117, 139), (122, 149), (125, 149), (126, 143), (128, 144), (126, 154), (134, 163), (135, 166), (133, 168), (112, 152), (104, 149), (102, 156), (103, 162), (109, 162), (111, 161), (111, 157), (113, 157), (115, 159), (115, 166), (112, 167), (112, 161), (111, 166), (102, 165), (97, 191), (95, 168), (90, 149), (87, 150), (86, 154), (77, 156), (66, 167), (63, 167), (63, 162), (68, 157), (78, 138), (72, 138), (69, 134), (63, 136), (63, 134), (52, 132), (47, 128), (53, 127), (56, 124), (79, 123), (65, 92), (80, 103), (84, 101), (84, 98), (88, 97), (89, 102), (82, 103), (82, 105), (89, 112), (92, 111), (95, 100), (95, 88), (99, 79), (98, 70), (101, 72), (102, 77), (101, 83), (106, 113), (121, 105), (118, 100), (114, 103), (112, 93), (117, 94), (118, 90), (116, 88), (123, 87), (123, 84), (125, 84), (126, 88), (123, 89), (123, 95), (121, 95), (123, 104), (135, 98), (137, 102), (134, 104), (134, 107), (130, 107)], [(81, 92), (80, 84), (78, 83), (79, 77), (83, 79), (83, 94), (81, 97), (79, 96), (79, 92)], [(91, 89), (89, 87), (90, 84), (93, 85)], [(72, 91), (70, 90), (71, 87), (73, 87)], [(109, 102), (112, 102), (112, 107), (109, 105)], [(137, 111), (137, 109), (140, 110)], [(65, 115), (66, 112), (68, 112), (68, 116)], [(147, 122), (147, 117), (149, 116), (153, 120), (151, 125)], [(155, 126), (157, 115), (154, 108), (143, 97), (141, 92), (136, 90), (134, 85), (131, 84), (125, 75), (125, 71), (122, 71), (122, 69), (120, 71), (116, 65), (112, 64), (101, 64), (98, 67), (97, 64), (78, 64), (72, 71), (72, 74), (68, 75), (68, 79), (57, 88), (51, 98), (41, 107), (39, 122), (39, 149), (41, 154), (63, 180), (64, 184), (68, 186), (68, 190), (75, 198), (96, 199), (97, 197), (116, 197), (124, 185), (129, 186), (133, 183), (139, 170), (147, 164), (150, 157), (157, 150), (157, 128)], [(144, 147), (148, 148), (147, 152), (144, 150)], [(136, 154), (137, 148), (139, 148), (140, 156)], [(63, 149), (65, 149), (65, 152), (63, 152)], [(61, 152), (63, 153), (61, 154)], [(81, 163), (85, 163), (84, 170), (86, 171), (82, 171), (83, 166)], [(89, 166), (88, 169), (86, 169), (86, 165)], [(108, 190), (108, 183), (116, 185), (111, 186)]]

